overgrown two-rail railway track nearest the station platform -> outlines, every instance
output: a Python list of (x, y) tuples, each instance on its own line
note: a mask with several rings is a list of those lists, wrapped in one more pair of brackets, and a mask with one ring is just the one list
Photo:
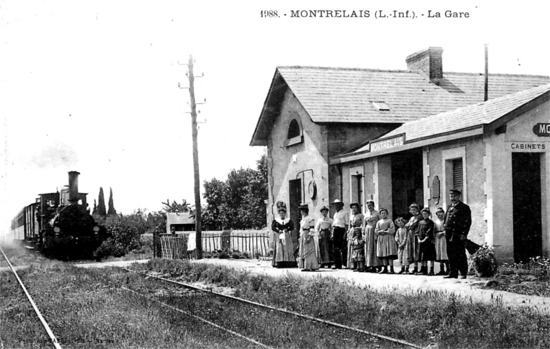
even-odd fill
[[(293, 319), (298, 318), (298, 319), (301, 319), (305, 322), (317, 323), (320, 326), (325, 326), (325, 328), (329, 328), (329, 327), (334, 328), (334, 330), (331, 331), (331, 335), (333, 335), (333, 336), (334, 335), (340, 335), (341, 337), (345, 337), (347, 334), (349, 335), (350, 333), (352, 333), (355, 336), (363, 336), (363, 337), (366, 337), (366, 338), (370, 337), (371, 339), (375, 338), (376, 340), (384, 341), (388, 344), (391, 344), (391, 346), (395, 346), (396, 348), (422, 348), (421, 346), (419, 346), (417, 344), (410, 343), (410, 342), (404, 341), (402, 339), (388, 337), (386, 335), (380, 335), (378, 333), (373, 333), (373, 332), (370, 332), (370, 331), (367, 331), (367, 330), (362, 330), (361, 328), (354, 328), (354, 327), (347, 326), (347, 325), (344, 325), (344, 324), (339, 324), (337, 322), (331, 322), (331, 321), (326, 320), (326, 319), (320, 319), (318, 317), (313, 317), (311, 315), (305, 315), (305, 314), (298, 313), (298, 312), (295, 312), (295, 311), (289, 311), (289, 310), (284, 309), (284, 308), (276, 308), (274, 306), (269, 306), (269, 305), (261, 304), (261, 303), (258, 303), (258, 302), (252, 302), (250, 300), (245, 300), (245, 299), (240, 298), (240, 297), (235, 297), (235, 296), (232, 296), (232, 295), (226, 295), (224, 293), (218, 293), (218, 292), (212, 291), (211, 289), (210, 290), (202, 289), (200, 287), (193, 286), (191, 284), (186, 284), (185, 282), (179, 282), (179, 281), (176, 281), (176, 280), (170, 280), (168, 278), (162, 278), (162, 277), (159, 277), (157, 275), (153, 275), (151, 273), (145, 273), (144, 274), (144, 273), (138, 273), (137, 271), (133, 271), (133, 270), (127, 269), (127, 268), (121, 268), (121, 269), (123, 269), (123, 270), (125, 270), (129, 273), (134, 273), (135, 275), (142, 275), (148, 280), (157, 280), (157, 281), (166, 282), (169, 285), (173, 286), (175, 289), (177, 289), (177, 288), (181, 289), (181, 287), (184, 287), (185, 289), (190, 290), (191, 292), (186, 293), (186, 297), (173, 297), (171, 300), (167, 300), (166, 302), (162, 302), (162, 301), (157, 300), (157, 297), (152, 297), (151, 295), (145, 295), (143, 293), (138, 293), (137, 291), (134, 291), (134, 290), (131, 290), (131, 289), (126, 289), (125, 287), (123, 288), (123, 289), (126, 289), (126, 291), (129, 291), (131, 293), (140, 295), (140, 297), (146, 297), (149, 300), (152, 300), (153, 302), (161, 303), (164, 306), (168, 306), (168, 307), (172, 308), (175, 311), (179, 311), (181, 313), (186, 313), (187, 315), (191, 315), (191, 316), (194, 316), (194, 317), (197, 317), (197, 315), (194, 315), (194, 313), (197, 311), (197, 309), (195, 309), (195, 312), (193, 312), (192, 310), (181, 310), (181, 308), (177, 308), (177, 306), (174, 306), (173, 304), (179, 304), (179, 306), (182, 306), (182, 307), (185, 307), (185, 306), (189, 307), (189, 304), (195, 304), (195, 302), (197, 301), (197, 295), (210, 295), (210, 296), (212, 296), (212, 299), (213, 298), (218, 299), (218, 301), (213, 301), (212, 302), (211, 308), (216, 308), (216, 306), (217, 306), (217, 308), (222, 308), (223, 309), (224, 306), (227, 306), (227, 307), (230, 306), (229, 305), (230, 302), (239, 302), (241, 304), (245, 304), (245, 306), (250, 306), (251, 308), (262, 309), (263, 311), (267, 311), (270, 314), (278, 313), (280, 316), (283, 316), (283, 317), (284, 316), (292, 317)], [(178, 293), (178, 292), (175, 291), (175, 293)], [(179, 295), (181, 295), (181, 293), (179, 293)], [(202, 298), (205, 298), (205, 297), (202, 297)], [(175, 299), (177, 299), (177, 300), (175, 300)], [(184, 301), (182, 302), (181, 299), (184, 299)], [(168, 304), (168, 302), (173, 303), (173, 304)], [(204, 300), (201, 300), (201, 304), (206, 304), (204, 302), (205, 302)], [(208, 303), (208, 304), (210, 304), (210, 303)], [(208, 308), (208, 310), (210, 310), (210, 308)], [(254, 313), (254, 311), (251, 311), (251, 312)], [(225, 328), (225, 327), (223, 327), (219, 324), (214, 324), (213, 322), (210, 322), (207, 319), (202, 319), (201, 318), (201, 321), (203, 321), (205, 323), (208, 323), (212, 326), (216, 326), (217, 328), (221, 328), (221, 329), (227, 331), (228, 333), (232, 333), (233, 335), (237, 335), (239, 337), (242, 336), (242, 337), (245, 337), (245, 339), (247, 339), (247, 340), (250, 339), (250, 341), (255, 341), (254, 339), (252, 339), (250, 337), (247, 337), (246, 335), (243, 335), (242, 333), (236, 333), (234, 330), (230, 330), (229, 328)], [(263, 343), (260, 343), (260, 342), (257, 342), (257, 344), (259, 346), (263, 347), (263, 348), (269, 348), (269, 346), (267, 346), (267, 344), (263, 344)]]

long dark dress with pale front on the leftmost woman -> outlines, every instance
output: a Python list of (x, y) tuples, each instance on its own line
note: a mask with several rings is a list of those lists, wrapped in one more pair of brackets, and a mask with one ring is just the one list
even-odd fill
[(276, 218), (272, 222), (271, 229), (275, 233), (272, 266), (277, 268), (298, 267), (296, 258), (294, 258), (294, 245), (292, 245), (291, 232), (294, 230), (294, 223), (289, 218), (285, 221)]

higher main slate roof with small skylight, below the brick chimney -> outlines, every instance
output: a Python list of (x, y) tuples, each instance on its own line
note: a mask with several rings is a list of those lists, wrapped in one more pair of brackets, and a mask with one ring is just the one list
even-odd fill
[[(483, 74), (445, 72), (435, 85), (406, 70), (278, 67), (250, 145), (265, 145), (283, 87), (296, 95), (313, 122), (395, 124), (483, 101), (484, 79)], [(548, 82), (548, 76), (489, 74), (489, 99)], [(390, 110), (378, 110), (372, 103), (377, 101)]]

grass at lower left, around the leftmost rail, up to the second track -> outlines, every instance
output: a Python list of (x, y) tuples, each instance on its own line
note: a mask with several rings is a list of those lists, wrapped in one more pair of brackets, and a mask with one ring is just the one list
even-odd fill
[[(113, 284), (126, 272), (77, 269), (57, 262), (21, 278), (63, 348), (241, 348), (248, 343), (206, 330)], [(2, 273), (1, 338), (5, 348), (49, 347), (49, 339), (12, 276)], [(196, 330), (190, 330), (194, 328)]]

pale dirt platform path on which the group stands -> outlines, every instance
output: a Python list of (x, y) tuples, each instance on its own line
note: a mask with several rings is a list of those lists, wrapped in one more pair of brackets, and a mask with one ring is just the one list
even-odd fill
[(282, 276), (287, 273), (300, 275), (306, 278), (333, 277), (343, 282), (353, 282), (359, 286), (370, 286), (377, 291), (415, 292), (417, 290), (434, 290), (446, 293), (454, 293), (465, 300), (481, 302), (496, 302), (500, 300), (503, 306), (529, 306), (538, 308), (544, 313), (550, 314), (550, 297), (538, 297), (531, 295), (518, 295), (506, 291), (480, 289), (487, 280), (468, 276), (467, 279), (444, 279), (442, 276), (416, 276), (416, 275), (379, 275), (376, 273), (355, 273), (348, 269), (333, 270), (320, 269), (314, 272), (302, 272), (300, 269), (277, 269), (271, 266), (270, 261), (264, 260), (220, 260), (217, 258), (205, 259), (202, 263), (222, 264), (235, 269), (242, 269), (252, 273), (261, 273), (271, 276)]

